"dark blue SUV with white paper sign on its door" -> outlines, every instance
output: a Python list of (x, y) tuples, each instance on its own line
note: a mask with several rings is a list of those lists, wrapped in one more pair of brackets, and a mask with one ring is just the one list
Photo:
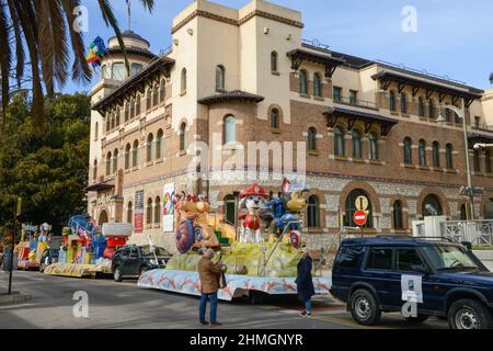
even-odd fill
[(362, 325), (401, 312), (412, 322), (437, 316), (452, 329), (493, 328), (493, 273), (465, 246), (443, 239), (344, 240), (331, 293)]

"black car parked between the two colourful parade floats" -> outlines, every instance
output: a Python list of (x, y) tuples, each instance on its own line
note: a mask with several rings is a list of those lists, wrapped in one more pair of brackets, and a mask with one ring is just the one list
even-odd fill
[(126, 246), (113, 256), (112, 272), (115, 282), (124, 278), (138, 278), (148, 270), (165, 268), (171, 254), (163, 248)]

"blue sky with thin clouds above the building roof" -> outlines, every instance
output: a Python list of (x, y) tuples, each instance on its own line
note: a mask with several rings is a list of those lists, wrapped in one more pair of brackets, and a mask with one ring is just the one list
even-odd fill
[[(133, 0), (133, 30), (159, 53), (171, 42), (173, 16), (192, 0), (156, 0), (152, 14)], [(241, 8), (249, 0), (215, 0)], [(406, 67), (446, 75), (477, 88), (490, 88), (493, 71), (493, 1), (491, 0), (272, 0), (299, 10), (303, 37), (317, 38), (331, 49), (368, 59), (381, 59)], [(89, 8), (89, 33), (107, 39), (113, 35), (100, 15), (95, 0), (82, 0)], [(123, 30), (127, 29), (125, 0), (112, 1)], [(402, 9), (417, 10), (417, 33), (404, 33)], [(87, 91), (73, 83), (65, 92)]]

